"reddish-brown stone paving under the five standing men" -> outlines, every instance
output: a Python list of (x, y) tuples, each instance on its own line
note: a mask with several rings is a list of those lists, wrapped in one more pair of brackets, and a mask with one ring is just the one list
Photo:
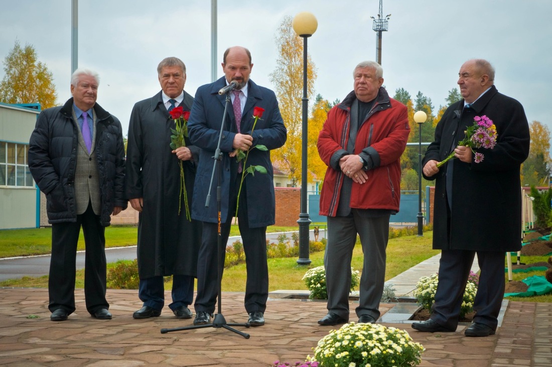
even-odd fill
[[(166, 292), (170, 298), (170, 293)], [(77, 310), (67, 321), (50, 321), (47, 289), (0, 289), (0, 366), (201, 366), (263, 367), (275, 360), (304, 360), (334, 327), (316, 321), (326, 314), (325, 301), (269, 299), (263, 327), (237, 328), (245, 339), (224, 328), (201, 328), (161, 334), (162, 328), (192, 325), (168, 307), (160, 317), (134, 320), (141, 307), (136, 290), (108, 289), (113, 320), (95, 320), (76, 291)], [(381, 305), (383, 314), (394, 304)], [(355, 302), (351, 302), (351, 321)], [(227, 322), (246, 322), (243, 293), (223, 293)], [(38, 318), (29, 318), (31, 315)], [(422, 367), (552, 365), (552, 304), (509, 302), (502, 327), (487, 338), (454, 333), (421, 333), (405, 323), (385, 322), (406, 330), (426, 348)]]

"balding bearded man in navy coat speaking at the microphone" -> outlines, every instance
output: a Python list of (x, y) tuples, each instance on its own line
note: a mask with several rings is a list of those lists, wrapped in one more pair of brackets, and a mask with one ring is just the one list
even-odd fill
[[(197, 312), (194, 325), (210, 322), (215, 311), (218, 282), (217, 264), (224, 268), (226, 242), (230, 234), (232, 217), (236, 213), (243, 241), (247, 267), (245, 309), (251, 326), (264, 325), (264, 310), (268, 298), (268, 265), (266, 230), (274, 224), (275, 200), (270, 150), (282, 147), (287, 131), (272, 90), (249, 79), (253, 63), (251, 53), (244, 47), (230, 47), (224, 52), (222, 71), (225, 76), (198, 88), (188, 122), (192, 144), (201, 148), (192, 200), (192, 218), (203, 222), (203, 238), (198, 258), (198, 290), (195, 298)], [(213, 156), (219, 142), (224, 117), (226, 94), (232, 106), (227, 109), (226, 126), (222, 127), (219, 163), (221, 187), (221, 239), (223, 250), (217, 260), (217, 203), (205, 207), (208, 195), (216, 198), (219, 184), (213, 173)], [(262, 111), (262, 116), (253, 110)], [(254, 125), (254, 128), (253, 128)], [(267, 149), (255, 148), (264, 145)], [(247, 161), (237, 161), (247, 153)], [(266, 174), (248, 174), (250, 166), (262, 166)], [(240, 191), (241, 187), (241, 191)], [(239, 192), (239, 195), (238, 195)], [(219, 300), (220, 301), (220, 300)]]

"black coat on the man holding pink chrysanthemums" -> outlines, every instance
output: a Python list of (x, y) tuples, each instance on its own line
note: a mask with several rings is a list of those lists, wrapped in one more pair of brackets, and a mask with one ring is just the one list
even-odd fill
[[(440, 250), (518, 251), (521, 249), (520, 166), (529, 155), (529, 125), (523, 106), (498, 93), (487, 93), (463, 110), (464, 101), (450, 105), (437, 124), (435, 141), (423, 159), (442, 161), (465, 136), (475, 116), (486, 115), (496, 125), (495, 148), (478, 151), (481, 163), (454, 159), (450, 233), (447, 223), (446, 165), (426, 177), (437, 179), (433, 214), (433, 248)], [(453, 147), (454, 144), (454, 147)], [(450, 241), (448, 240), (450, 238)]]

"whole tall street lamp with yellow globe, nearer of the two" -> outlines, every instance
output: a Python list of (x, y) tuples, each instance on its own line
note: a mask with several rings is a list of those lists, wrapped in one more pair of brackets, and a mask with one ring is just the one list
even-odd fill
[(301, 127), (301, 212), (299, 213), (299, 265), (309, 265), (309, 225), (311, 223), (307, 211), (307, 118), (309, 113), (309, 99), (307, 98), (307, 38), (316, 32), (318, 21), (309, 12), (302, 12), (293, 18), (293, 30), (303, 38), (303, 106)]

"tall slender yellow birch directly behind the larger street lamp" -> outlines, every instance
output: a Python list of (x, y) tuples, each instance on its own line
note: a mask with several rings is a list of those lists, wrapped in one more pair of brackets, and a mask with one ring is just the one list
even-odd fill
[[(289, 175), (295, 186), (301, 179), (303, 40), (293, 30), (292, 21), (293, 19), (288, 15), (280, 23), (275, 37), (279, 51), (277, 67), (269, 77), (274, 85), (280, 112), (288, 129), (288, 140), (282, 148), (273, 151), (272, 159), (280, 170)], [(307, 98), (314, 94), (315, 80), (316, 68), (309, 55), (307, 56)], [(307, 174), (307, 179), (312, 182), (311, 172)]]

